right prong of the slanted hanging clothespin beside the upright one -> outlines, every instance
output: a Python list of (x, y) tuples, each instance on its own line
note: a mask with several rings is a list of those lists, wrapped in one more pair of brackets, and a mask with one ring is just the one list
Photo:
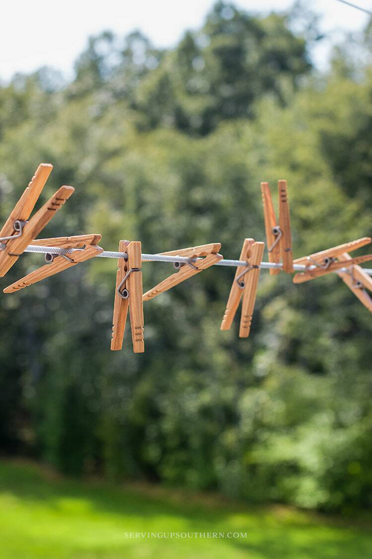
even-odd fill
[[(254, 243), (249, 259), (249, 263), (253, 266), (259, 266), (262, 262), (265, 243)], [(258, 289), (258, 280), (260, 276), (260, 268), (253, 268), (244, 276), (243, 302), (241, 304), (241, 317), (239, 337), (248, 338), (250, 326), (252, 325), (254, 304)]]

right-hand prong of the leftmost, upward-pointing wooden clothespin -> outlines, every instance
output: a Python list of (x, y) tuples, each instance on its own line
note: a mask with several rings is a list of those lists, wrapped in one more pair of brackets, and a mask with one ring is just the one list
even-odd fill
[(0, 277), (5, 276), (9, 269), (17, 262), (31, 240), (45, 228), (56, 212), (64, 205), (65, 201), (73, 194), (72, 186), (61, 186), (57, 192), (36, 212), (23, 228), (22, 236), (10, 239), (5, 250), (0, 251)]

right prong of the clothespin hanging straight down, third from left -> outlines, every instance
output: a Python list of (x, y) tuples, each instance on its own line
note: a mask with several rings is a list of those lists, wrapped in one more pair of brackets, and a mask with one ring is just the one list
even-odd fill
[(131, 317), (134, 353), (144, 352), (141, 252), (142, 245), (140, 241), (132, 241), (129, 243), (127, 248), (129, 269), (139, 268), (138, 272), (131, 273), (126, 282), (129, 291), (129, 316)]

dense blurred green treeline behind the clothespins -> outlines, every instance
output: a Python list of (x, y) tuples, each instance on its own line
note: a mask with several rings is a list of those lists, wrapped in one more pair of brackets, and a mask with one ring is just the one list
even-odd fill
[[(172, 50), (91, 39), (76, 77), (0, 88), (0, 219), (40, 162), (74, 196), (43, 236), (144, 252), (264, 239), (259, 183), (287, 178), (294, 256), (370, 234), (372, 72), (355, 49), (311, 66), (294, 13), (218, 3)], [(296, 33), (293, 31), (296, 29)], [(355, 56), (354, 54), (355, 53)], [(41, 265), (18, 260), (1, 287)], [(172, 272), (144, 263), (144, 288)], [(210, 269), (145, 305), (146, 353), (109, 350), (116, 262), (0, 300), (0, 438), (74, 475), (146, 477), (307, 508), (368, 506), (371, 316), (333, 274), (262, 273), (252, 334), (219, 331), (233, 277)]]

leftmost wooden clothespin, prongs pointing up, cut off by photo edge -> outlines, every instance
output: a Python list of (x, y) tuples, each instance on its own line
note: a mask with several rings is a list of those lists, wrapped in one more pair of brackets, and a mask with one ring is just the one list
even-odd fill
[(0, 250), (0, 277), (5, 276), (30, 241), (37, 237), (75, 190), (72, 186), (61, 186), (30, 221), (27, 221), (52, 168), (52, 165), (46, 163), (38, 166), (35, 175), (0, 231), (0, 243), (4, 245), (3, 250)]

